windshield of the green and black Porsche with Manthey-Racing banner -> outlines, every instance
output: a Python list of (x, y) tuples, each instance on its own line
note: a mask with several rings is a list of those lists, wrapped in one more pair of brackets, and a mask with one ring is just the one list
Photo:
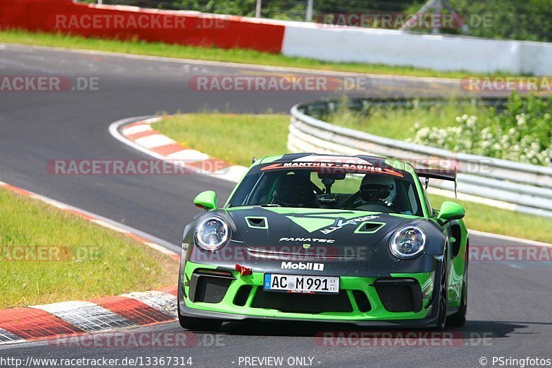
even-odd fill
[(422, 215), (414, 178), (406, 171), (270, 169), (273, 166), (252, 168), (228, 205)]

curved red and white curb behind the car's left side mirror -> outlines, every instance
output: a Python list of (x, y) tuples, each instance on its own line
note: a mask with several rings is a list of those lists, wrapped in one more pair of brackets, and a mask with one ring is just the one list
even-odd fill
[(123, 119), (112, 123), (109, 131), (119, 142), (146, 155), (182, 166), (189, 173), (209, 175), (228, 182), (239, 182), (247, 172), (245, 166), (231, 165), (222, 159), (181, 146), (175, 140), (162, 135), (151, 126), (159, 120), (161, 117)]

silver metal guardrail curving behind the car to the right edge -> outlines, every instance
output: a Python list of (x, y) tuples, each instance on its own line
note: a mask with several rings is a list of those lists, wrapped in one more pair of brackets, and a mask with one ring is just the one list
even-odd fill
[[(335, 126), (311, 115), (320, 116), (337, 108), (340, 101), (316, 101), (291, 109), (288, 149), (292, 152), (316, 152), (346, 155), (377, 155), (413, 162), (416, 165), (438, 163), (442, 168), (457, 167), (458, 193), (486, 200), (486, 204), (522, 213), (552, 217), (552, 168), (520, 164), (466, 153), (454, 153), (378, 137)], [(407, 100), (355, 99), (353, 105), (406, 104)], [(496, 104), (499, 100), (486, 103)], [(431, 180), (429, 185), (453, 193), (453, 184)], [(441, 191), (440, 193), (443, 193)]]

